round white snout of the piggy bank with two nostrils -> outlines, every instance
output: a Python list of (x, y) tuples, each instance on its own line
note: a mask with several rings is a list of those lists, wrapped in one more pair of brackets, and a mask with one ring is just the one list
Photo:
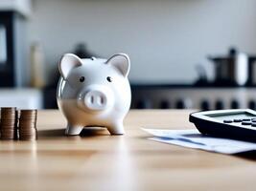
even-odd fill
[(103, 111), (113, 105), (113, 95), (105, 86), (92, 85), (81, 91), (79, 104), (89, 111)]

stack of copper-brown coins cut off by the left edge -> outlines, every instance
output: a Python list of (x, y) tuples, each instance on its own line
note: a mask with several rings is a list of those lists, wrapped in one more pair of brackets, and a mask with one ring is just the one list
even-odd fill
[(1, 108), (1, 139), (14, 139), (17, 131), (16, 108)]

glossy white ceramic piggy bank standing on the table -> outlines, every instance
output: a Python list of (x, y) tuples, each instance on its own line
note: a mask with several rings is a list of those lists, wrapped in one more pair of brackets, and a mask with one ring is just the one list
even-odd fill
[(66, 53), (58, 64), (58, 108), (67, 118), (66, 135), (79, 135), (86, 126), (104, 126), (111, 135), (124, 134), (130, 106), (129, 58), (81, 59)]

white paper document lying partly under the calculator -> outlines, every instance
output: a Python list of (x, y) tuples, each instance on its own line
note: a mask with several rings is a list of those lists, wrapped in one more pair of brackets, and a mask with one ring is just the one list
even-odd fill
[(201, 149), (222, 154), (237, 154), (256, 150), (256, 143), (228, 138), (211, 138), (193, 130), (160, 130), (145, 129), (153, 138), (151, 140), (175, 144), (179, 146)]

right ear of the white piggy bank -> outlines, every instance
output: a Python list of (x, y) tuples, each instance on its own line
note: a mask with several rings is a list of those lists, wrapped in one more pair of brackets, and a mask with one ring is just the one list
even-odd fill
[(107, 61), (106, 64), (111, 64), (115, 68), (117, 68), (121, 74), (123, 74), (125, 77), (128, 76), (129, 72), (129, 58), (128, 55), (125, 53), (117, 53), (112, 55)]

